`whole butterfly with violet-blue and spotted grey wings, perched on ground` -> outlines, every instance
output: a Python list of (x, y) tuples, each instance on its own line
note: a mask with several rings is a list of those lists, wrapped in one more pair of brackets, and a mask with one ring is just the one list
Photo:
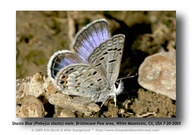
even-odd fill
[(123, 91), (117, 81), (125, 35), (110, 36), (105, 19), (83, 27), (75, 36), (70, 50), (54, 53), (47, 66), (48, 76), (57, 90), (67, 95), (88, 97), (103, 103)]

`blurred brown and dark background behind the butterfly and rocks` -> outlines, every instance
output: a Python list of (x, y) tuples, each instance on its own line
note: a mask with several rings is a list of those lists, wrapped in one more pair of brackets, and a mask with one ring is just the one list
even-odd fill
[(69, 49), (82, 27), (101, 18), (111, 35), (126, 35), (120, 76), (137, 73), (149, 55), (176, 49), (175, 11), (17, 11), (17, 79), (47, 74), (51, 55)]

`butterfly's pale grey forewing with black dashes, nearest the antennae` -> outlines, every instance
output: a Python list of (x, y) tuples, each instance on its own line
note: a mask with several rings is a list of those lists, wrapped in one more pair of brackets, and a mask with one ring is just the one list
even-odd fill
[(101, 70), (113, 86), (118, 78), (125, 36), (118, 34), (103, 42), (88, 57), (88, 62)]

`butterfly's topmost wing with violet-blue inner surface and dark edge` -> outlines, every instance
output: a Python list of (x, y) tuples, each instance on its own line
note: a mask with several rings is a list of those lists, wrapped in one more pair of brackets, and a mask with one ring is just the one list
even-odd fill
[(93, 50), (109, 38), (107, 21), (105, 19), (96, 20), (77, 33), (71, 49), (86, 62)]

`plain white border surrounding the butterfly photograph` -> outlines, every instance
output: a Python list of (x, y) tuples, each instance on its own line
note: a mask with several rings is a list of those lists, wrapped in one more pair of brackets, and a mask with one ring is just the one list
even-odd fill
[[(167, 127), (162, 128), (162, 131), (157, 134), (163, 134), (169, 132), (169, 134), (189, 134), (191, 133), (191, 120), (192, 120), (192, 87), (191, 87), (191, 75), (192, 75), (192, 42), (191, 42), (191, 4), (189, 1), (178, 1), (178, 0), (6, 0), (0, 2), (0, 39), (1, 39), (1, 133), (16, 133), (16, 134), (34, 134), (30, 132), (27, 127), (12, 126), (12, 121), (17, 121), (15, 118), (15, 78), (16, 78), (16, 30), (15, 30), (15, 20), (16, 20), (16, 10), (177, 10), (177, 15), (181, 16), (182, 20), (182, 30), (183, 41), (182, 44), (177, 46), (182, 46), (184, 49), (182, 57), (184, 57), (184, 69), (182, 69), (184, 74), (183, 89), (183, 105), (184, 113), (182, 115), (182, 126), (179, 127)], [(161, 127), (159, 127), (161, 128)], [(97, 133), (97, 132), (96, 132)], [(109, 132), (111, 133), (111, 132)], [(115, 134), (122, 132), (115, 132)], [(39, 133), (37, 133), (39, 134)], [(51, 133), (40, 133), (43, 134), (55, 134)], [(62, 133), (63, 134), (63, 133)], [(66, 134), (66, 133), (65, 133)], [(70, 133), (71, 134), (71, 133)], [(72, 133), (73, 134), (73, 133)], [(89, 134), (84, 132), (78, 132), (78, 134)], [(99, 133), (106, 134), (106, 132)], [(138, 132), (125, 132), (124, 134), (138, 134)], [(141, 134), (149, 134), (141, 132)]]

